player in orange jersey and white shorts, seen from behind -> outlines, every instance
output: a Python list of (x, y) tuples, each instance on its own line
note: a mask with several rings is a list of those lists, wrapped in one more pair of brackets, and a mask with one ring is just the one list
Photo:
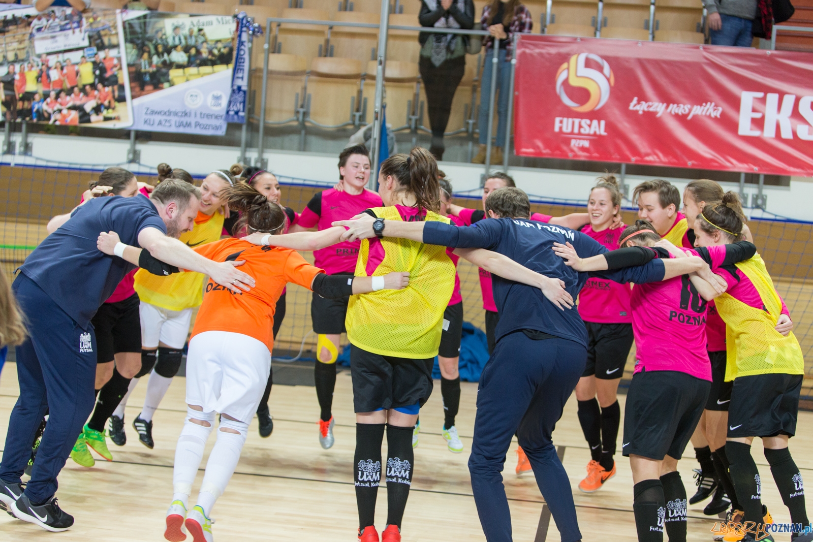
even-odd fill
[[(242, 213), (249, 233), (273, 234), (285, 228), (285, 210), (250, 185), (236, 184), (225, 194), (229, 209)], [(102, 252), (115, 254), (118, 236), (103, 233), (99, 239)], [(184, 524), (194, 542), (212, 542), (209, 514), (237, 466), (249, 422), (263, 395), (274, 343), (270, 323), (285, 284), (299, 284), (322, 297), (342, 297), (372, 292), (374, 282), (372, 277), (328, 276), (291, 249), (252, 245), (242, 239), (223, 239), (195, 250), (217, 262), (245, 262), (242, 269), (256, 275), (257, 286), (233, 293), (209, 281), (204, 288), (189, 340), (189, 408), (176, 447), (172, 505), (164, 533), (173, 542), (185, 540)], [(141, 249), (128, 247), (124, 258), (137, 262), (140, 254)], [(384, 288), (401, 289), (408, 284), (409, 273), (393, 271), (381, 278)], [(189, 494), (216, 412), (222, 414), (217, 442), (209, 455), (198, 503), (187, 515)]]

